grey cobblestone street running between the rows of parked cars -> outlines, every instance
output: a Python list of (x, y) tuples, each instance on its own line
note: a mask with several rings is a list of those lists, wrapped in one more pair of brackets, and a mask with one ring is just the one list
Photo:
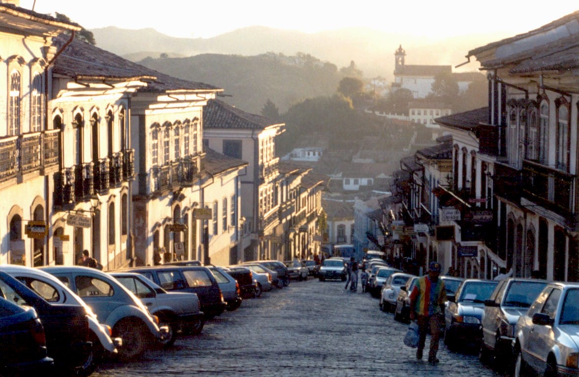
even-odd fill
[(417, 361), (402, 343), (406, 325), (344, 284), (292, 281), (208, 321), (199, 336), (131, 363), (104, 364), (94, 376), (498, 376), (474, 353), (451, 353), (442, 341), (440, 364)]

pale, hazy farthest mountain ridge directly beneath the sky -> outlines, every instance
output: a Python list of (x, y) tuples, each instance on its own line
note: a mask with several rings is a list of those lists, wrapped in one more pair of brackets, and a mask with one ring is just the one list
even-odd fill
[[(409, 28), (411, 25), (409, 25)], [(435, 24), (433, 24), (435, 27)], [(268, 27), (246, 27), (212, 38), (175, 38), (153, 28), (129, 30), (118, 27), (91, 29), (97, 46), (132, 61), (145, 57), (189, 57), (199, 54), (255, 56), (273, 52), (285, 55), (310, 54), (322, 61), (347, 67), (351, 61), (366, 78), (393, 79), (394, 52), (406, 50), (406, 64), (453, 65), (464, 63), (469, 50), (504, 36), (470, 33), (460, 37), (431, 40), (409, 34), (392, 34), (370, 28), (346, 28), (305, 33)], [(456, 72), (477, 71), (478, 64), (463, 65)], [(202, 78), (199, 81), (203, 81)]]

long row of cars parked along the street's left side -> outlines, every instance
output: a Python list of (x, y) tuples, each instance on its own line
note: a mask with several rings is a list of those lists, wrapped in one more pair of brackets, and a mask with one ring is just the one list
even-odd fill
[[(201, 266), (166, 263), (102, 272), (83, 266), (0, 266), (0, 375), (56, 367), (90, 375), (104, 358), (130, 360), (145, 350), (199, 334), (207, 319), (236, 310), (290, 279), (280, 261)], [(306, 269), (307, 278), (307, 269)]]

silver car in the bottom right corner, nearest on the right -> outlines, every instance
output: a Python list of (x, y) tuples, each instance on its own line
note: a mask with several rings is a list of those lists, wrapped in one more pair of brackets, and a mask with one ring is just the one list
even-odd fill
[(551, 283), (519, 317), (514, 375), (579, 375), (579, 283)]

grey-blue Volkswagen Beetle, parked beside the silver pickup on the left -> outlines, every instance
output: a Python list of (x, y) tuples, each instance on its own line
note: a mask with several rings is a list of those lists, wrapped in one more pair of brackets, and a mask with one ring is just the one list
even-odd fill
[(123, 340), (119, 357), (130, 360), (162, 342), (168, 328), (159, 328), (159, 319), (152, 316), (131, 291), (114, 277), (94, 268), (83, 266), (42, 267), (58, 277), (77, 294), (101, 323), (112, 328), (112, 335)]

